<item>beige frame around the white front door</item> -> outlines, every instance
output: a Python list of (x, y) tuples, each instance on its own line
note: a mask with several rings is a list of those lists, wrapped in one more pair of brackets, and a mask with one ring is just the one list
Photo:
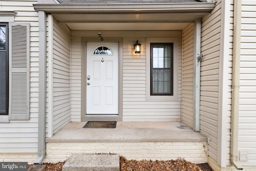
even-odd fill
[[(104, 44), (104, 42), (118, 42), (119, 44), (119, 71), (118, 71), (118, 115), (89, 115), (86, 114), (86, 53), (87, 53), (87, 42), (101, 42)], [(123, 106), (123, 100), (122, 100), (122, 38), (104, 38), (104, 41), (100, 41), (100, 38), (82, 38), (82, 82), (81, 82), (81, 121), (122, 121), (122, 106)]]

